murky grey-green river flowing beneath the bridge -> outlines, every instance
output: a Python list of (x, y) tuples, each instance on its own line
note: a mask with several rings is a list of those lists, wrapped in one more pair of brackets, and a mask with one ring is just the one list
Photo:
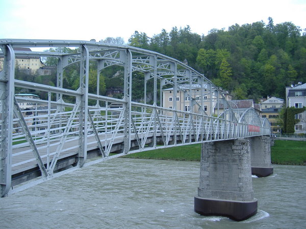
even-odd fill
[(194, 212), (199, 162), (115, 158), (0, 199), (0, 228), (305, 228), (305, 166), (252, 178), (258, 213)]

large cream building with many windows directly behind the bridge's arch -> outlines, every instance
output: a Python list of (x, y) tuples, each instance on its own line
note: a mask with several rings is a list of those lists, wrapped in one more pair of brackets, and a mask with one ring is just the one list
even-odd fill
[[(177, 110), (190, 111), (192, 109), (194, 113), (199, 113), (199, 107), (201, 103), (201, 85), (192, 84), (191, 90), (189, 84), (180, 84), (179, 87), (185, 92), (183, 92), (182, 90), (177, 90), (175, 96), (173, 96), (173, 94), (175, 94), (173, 93), (173, 88), (163, 90), (163, 107), (172, 109), (175, 101), (175, 106)], [(230, 95), (227, 91), (223, 91), (222, 89), (219, 90), (221, 91), (222, 95), (225, 97), (226, 100), (232, 99), (232, 95)], [(211, 94), (213, 94), (212, 101)], [(213, 109), (218, 103), (218, 101), (223, 99), (222, 95), (219, 94), (218, 91), (215, 89), (211, 93), (210, 84), (206, 83), (203, 85), (203, 110), (208, 116), (213, 113)], [(192, 107), (190, 107), (190, 101), (192, 101)]]

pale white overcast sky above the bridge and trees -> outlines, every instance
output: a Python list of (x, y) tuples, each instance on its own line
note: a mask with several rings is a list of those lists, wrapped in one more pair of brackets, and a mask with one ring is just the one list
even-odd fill
[(268, 17), (306, 28), (306, 0), (0, 0), (0, 9), (0, 39), (127, 42), (136, 30), (152, 37), (163, 28), (189, 25), (207, 35), (235, 23), (267, 23)]

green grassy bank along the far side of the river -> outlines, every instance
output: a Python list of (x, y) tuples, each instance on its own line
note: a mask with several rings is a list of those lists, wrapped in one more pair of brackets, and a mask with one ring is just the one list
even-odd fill
[[(129, 154), (124, 158), (200, 161), (201, 144), (171, 147)], [(271, 147), (273, 164), (306, 165), (306, 142), (291, 140), (275, 140)]]

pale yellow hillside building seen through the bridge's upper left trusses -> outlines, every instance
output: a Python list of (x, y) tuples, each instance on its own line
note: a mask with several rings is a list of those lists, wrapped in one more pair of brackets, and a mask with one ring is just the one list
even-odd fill
[[(14, 48), (14, 51), (31, 51), (30, 48)], [(27, 56), (27, 55), (18, 55), (15, 59), (15, 67), (18, 67), (20, 70), (31, 71), (35, 73), (38, 69), (45, 67), (41, 62), (39, 57)], [(0, 55), (0, 71), (3, 70), (4, 57)]]

